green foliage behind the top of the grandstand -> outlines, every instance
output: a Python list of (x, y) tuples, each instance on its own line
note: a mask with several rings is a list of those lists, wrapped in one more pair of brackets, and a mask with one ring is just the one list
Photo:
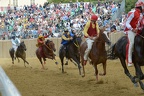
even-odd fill
[[(48, 2), (54, 2), (54, 3), (68, 3), (70, 2), (70, 0), (47, 0)], [(76, 2), (77, 0), (71, 0), (72, 2)], [(79, 2), (83, 1), (83, 2), (92, 2), (94, 4), (97, 3), (98, 0), (78, 0)], [(105, 0), (100, 0), (101, 2), (104, 2)], [(112, 1), (112, 0), (106, 0), (106, 1)], [(122, 0), (114, 0), (116, 2), (121, 2)], [(126, 13), (129, 12), (132, 8), (135, 7), (135, 3), (137, 0), (125, 0), (125, 10)]]

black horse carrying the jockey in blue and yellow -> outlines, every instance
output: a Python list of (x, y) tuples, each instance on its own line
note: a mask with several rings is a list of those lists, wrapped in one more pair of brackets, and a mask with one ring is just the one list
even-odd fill
[(67, 49), (65, 49), (64, 46), (60, 48), (59, 58), (61, 60), (62, 73), (64, 73), (64, 57), (66, 57), (66, 59), (71, 60), (75, 65), (78, 66), (79, 74), (81, 74), (80, 54), (79, 54), (79, 46), (81, 42), (82, 42), (81, 36), (74, 35), (73, 40), (70, 41), (69, 44), (67, 45)]

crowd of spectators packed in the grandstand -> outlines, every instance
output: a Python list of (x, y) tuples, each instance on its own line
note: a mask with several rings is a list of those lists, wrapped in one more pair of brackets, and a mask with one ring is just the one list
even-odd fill
[(0, 40), (8, 40), (12, 35), (19, 35), (22, 39), (37, 38), (39, 34), (60, 37), (65, 27), (82, 33), (91, 14), (98, 15), (99, 26), (105, 26), (107, 32), (121, 31), (125, 14), (115, 21), (111, 20), (119, 7), (119, 3), (111, 1), (97, 4), (45, 3), (9, 8), (5, 14), (0, 14)]

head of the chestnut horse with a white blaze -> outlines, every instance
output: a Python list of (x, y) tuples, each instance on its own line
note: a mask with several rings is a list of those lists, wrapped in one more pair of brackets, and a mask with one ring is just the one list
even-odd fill
[(111, 45), (111, 41), (108, 37), (108, 33), (105, 31), (105, 27), (100, 28), (99, 39), (101, 39), (101, 41), (106, 42), (108, 45)]

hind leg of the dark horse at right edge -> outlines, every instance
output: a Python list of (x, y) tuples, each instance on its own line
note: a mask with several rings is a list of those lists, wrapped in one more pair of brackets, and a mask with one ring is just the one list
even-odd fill
[(137, 82), (135, 81), (135, 78), (129, 73), (129, 70), (127, 69), (125, 59), (122, 57), (119, 57), (119, 59), (120, 59), (120, 62), (124, 68), (125, 74), (130, 78), (130, 80), (134, 83), (135, 86), (138, 86)]

